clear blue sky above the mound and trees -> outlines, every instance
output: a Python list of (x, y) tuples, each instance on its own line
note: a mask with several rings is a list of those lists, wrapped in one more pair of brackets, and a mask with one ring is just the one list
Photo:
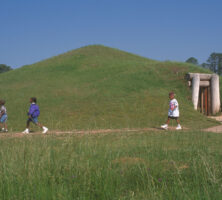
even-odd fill
[(222, 1), (0, 0), (0, 64), (20, 67), (90, 44), (202, 63), (222, 53)]

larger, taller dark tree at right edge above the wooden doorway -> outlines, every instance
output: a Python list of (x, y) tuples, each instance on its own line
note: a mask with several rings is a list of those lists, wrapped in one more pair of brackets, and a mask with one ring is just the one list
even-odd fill
[(207, 60), (208, 68), (217, 73), (222, 75), (222, 53), (212, 53)]

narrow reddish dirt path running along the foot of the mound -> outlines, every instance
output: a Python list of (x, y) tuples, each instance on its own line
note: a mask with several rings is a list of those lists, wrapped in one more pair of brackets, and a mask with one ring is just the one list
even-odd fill
[[(176, 130), (176, 127), (169, 127), (168, 131)], [(183, 130), (187, 130), (187, 128), (183, 128)], [(73, 131), (58, 131), (53, 130), (49, 131), (47, 134), (42, 134), (41, 132), (32, 132), (29, 134), (24, 133), (0, 133), (0, 137), (24, 137), (30, 135), (62, 135), (62, 134), (78, 134), (78, 135), (86, 135), (86, 134), (100, 134), (100, 133), (121, 133), (121, 132), (148, 132), (148, 131), (163, 131), (159, 127), (157, 128), (133, 128), (133, 129), (98, 129), (98, 130), (73, 130)]]

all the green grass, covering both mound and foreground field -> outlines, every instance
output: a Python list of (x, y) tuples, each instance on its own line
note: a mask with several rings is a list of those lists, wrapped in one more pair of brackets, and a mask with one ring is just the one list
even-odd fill
[[(222, 135), (201, 131), (218, 122), (193, 110), (188, 72), (209, 71), (94, 45), (0, 74), (0, 199), (222, 199)], [(160, 127), (172, 90), (184, 131), (55, 134)], [(17, 137), (32, 96), (51, 133)]]

